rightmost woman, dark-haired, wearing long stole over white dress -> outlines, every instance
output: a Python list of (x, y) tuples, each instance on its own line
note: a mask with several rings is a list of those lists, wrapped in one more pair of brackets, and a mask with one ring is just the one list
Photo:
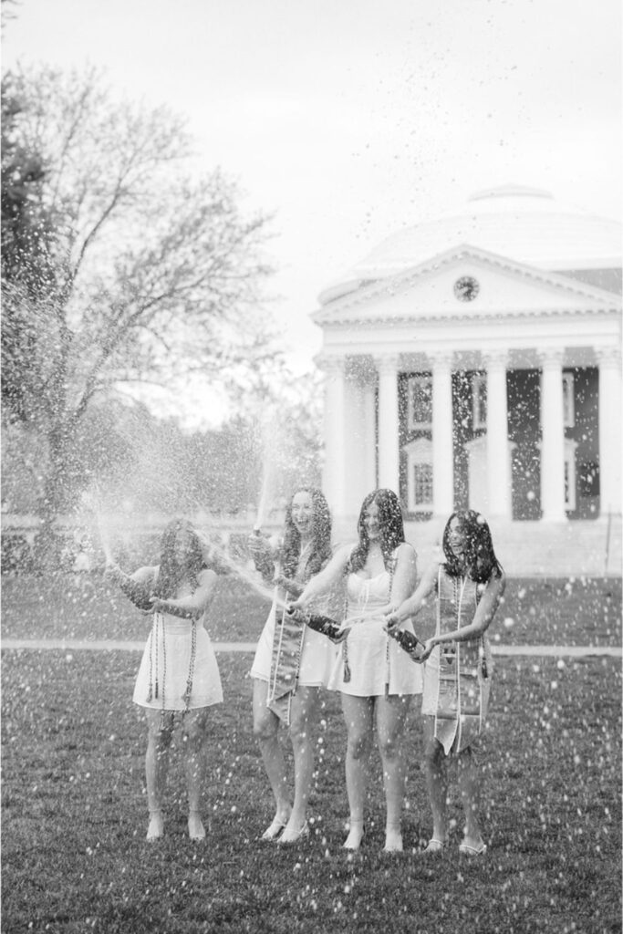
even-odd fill
[(465, 812), (459, 851), (480, 856), (487, 849), (479, 821), (478, 771), (480, 734), (488, 711), (492, 672), (487, 630), (502, 600), (506, 580), (493, 550), (488, 523), (475, 510), (449, 517), (443, 548), (444, 559), (434, 561), (413, 596), (389, 614), (388, 630), (399, 638), (404, 620), (415, 616), (429, 594), (434, 593), (435, 634), (426, 641), (423, 651), (415, 649), (414, 656), (425, 663), (422, 715), (432, 838), (424, 852), (439, 853), (446, 847), (447, 761), (454, 758)]

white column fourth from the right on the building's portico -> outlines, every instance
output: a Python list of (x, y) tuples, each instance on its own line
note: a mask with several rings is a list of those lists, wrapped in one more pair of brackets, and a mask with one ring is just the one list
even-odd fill
[(432, 357), (432, 510), (437, 517), (454, 511), (452, 354)]

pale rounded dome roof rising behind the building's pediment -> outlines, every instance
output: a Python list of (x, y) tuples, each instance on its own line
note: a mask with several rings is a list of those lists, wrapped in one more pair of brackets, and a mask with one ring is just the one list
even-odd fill
[(615, 276), (620, 276), (618, 221), (561, 205), (548, 191), (503, 185), (474, 193), (459, 211), (393, 233), (325, 289), (320, 302), (399, 275), (461, 245), (549, 272), (576, 274), (605, 288), (614, 283), (602, 271), (619, 270)]

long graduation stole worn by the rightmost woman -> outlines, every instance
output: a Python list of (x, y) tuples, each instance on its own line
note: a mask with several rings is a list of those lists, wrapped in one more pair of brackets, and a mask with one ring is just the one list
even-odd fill
[[(474, 619), (479, 594), (468, 577), (456, 578), (440, 566), (437, 578), (437, 633), (453, 632)], [(439, 690), (434, 735), (444, 750), (461, 752), (482, 729), (483, 680), (488, 677), (482, 637), (439, 645)]]

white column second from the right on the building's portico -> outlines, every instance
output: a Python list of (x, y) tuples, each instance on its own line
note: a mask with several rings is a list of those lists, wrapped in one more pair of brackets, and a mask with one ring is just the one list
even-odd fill
[(541, 512), (545, 522), (563, 522), (564, 422), (562, 351), (541, 355)]

